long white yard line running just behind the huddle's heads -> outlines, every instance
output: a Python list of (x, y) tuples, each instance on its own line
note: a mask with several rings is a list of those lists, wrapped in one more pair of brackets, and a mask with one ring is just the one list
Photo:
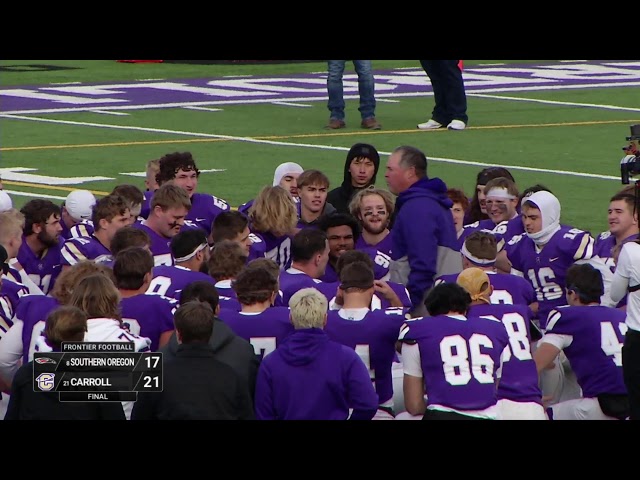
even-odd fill
[[(187, 132), (183, 130), (169, 130), (164, 128), (148, 128), (148, 127), (134, 127), (134, 126), (126, 126), (126, 125), (107, 125), (101, 123), (92, 123), (92, 122), (77, 122), (71, 120), (55, 120), (51, 118), (39, 118), (39, 117), (25, 117), (22, 115), (0, 115), (0, 117), (19, 119), (19, 120), (30, 120), (33, 122), (44, 122), (44, 123), (58, 123), (64, 125), (78, 125), (78, 126), (86, 126), (86, 127), (97, 127), (97, 128), (108, 128), (114, 130), (134, 130), (139, 132), (152, 132), (152, 133), (168, 133), (173, 135), (185, 135), (190, 137), (204, 137), (204, 138), (220, 138), (226, 140), (234, 140), (238, 142), (246, 142), (246, 143), (256, 143), (263, 145), (275, 145), (275, 146), (287, 146), (287, 147), (297, 147), (297, 148), (313, 148), (318, 150), (334, 150), (341, 152), (348, 152), (349, 147), (334, 147), (330, 145), (317, 145), (310, 143), (295, 143), (295, 142), (282, 142), (275, 140), (261, 140), (251, 137), (236, 137), (232, 135), (214, 135), (211, 133), (198, 133), (198, 132)], [(381, 155), (391, 155), (391, 152), (379, 151)], [(479, 167), (505, 167), (509, 170), (522, 170), (526, 172), (538, 172), (544, 174), (555, 174), (555, 175), (570, 175), (574, 177), (583, 177), (583, 178), (599, 178), (603, 180), (616, 180), (620, 181), (619, 176), (613, 175), (600, 175), (597, 173), (588, 173), (588, 172), (576, 172), (572, 170), (552, 170), (545, 168), (534, 168), (534, 167), (524, 167), (519, 165), (499, 165), (499, 164), (491, 164), (484, 162), (473, 162), (469, 160), (458, 160), (454, 158), (446, 158), (446, 157), (428, 157), (430, 162), (441, 162), (441, 163), (451, 163), (456, 165), (470, 165), (470, 166), (479, 166)]]

